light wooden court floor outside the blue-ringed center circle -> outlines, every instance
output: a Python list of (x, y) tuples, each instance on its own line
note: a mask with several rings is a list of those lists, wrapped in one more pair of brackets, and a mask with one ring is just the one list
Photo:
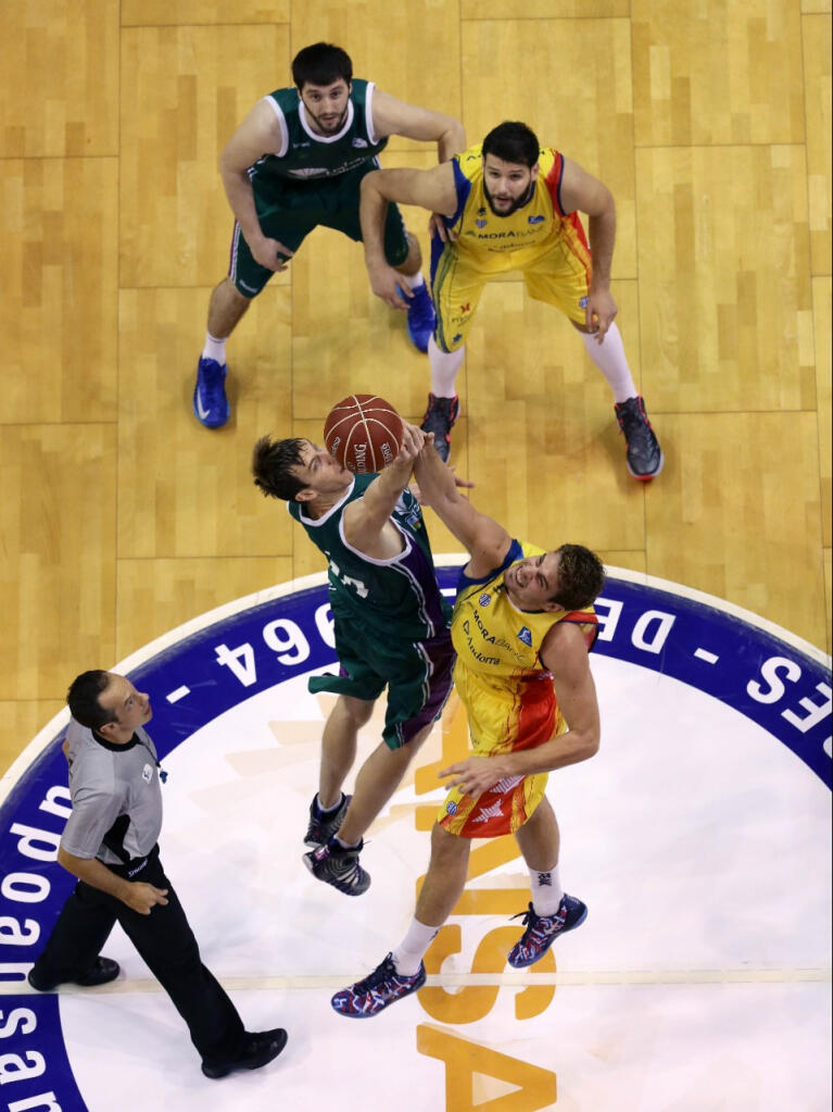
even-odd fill
[[(471, 141), (525, 120), (616, 198), (665, 470), (628, 476), (581, 342), (503, 281), (460, 380), (476, 505), (830, 652), (830, 0), (26, 0), (0, 4), (2, 767), (79, 671), (320, 567), (251, 484), (259, 435), (320, 439), (353, 390), (422, 415), (426, 359), (320, 230), (229, 344), (232, 421), (191, 413), (232, 222), (219, 151), (319, 39)], [(394, 140), (384, 165), (433, 158)]]

